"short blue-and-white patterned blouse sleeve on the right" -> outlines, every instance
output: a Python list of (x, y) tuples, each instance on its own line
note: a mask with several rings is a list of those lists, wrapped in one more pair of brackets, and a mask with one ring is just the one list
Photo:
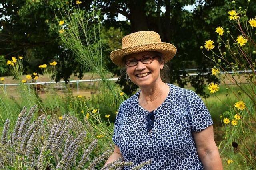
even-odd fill
[(187, 98), (190, 129), (200, 132), (213, 124), (212, 117), (202, 99), (195, 92), (191, 91), (189, 94)]

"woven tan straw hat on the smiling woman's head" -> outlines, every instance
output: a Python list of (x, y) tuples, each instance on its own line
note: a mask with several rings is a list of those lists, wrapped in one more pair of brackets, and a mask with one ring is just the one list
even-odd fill
[(142, 51), (158, 51), (162, 53), (166, 63), (174, 57), (177, 49), (170, 43), (161, 42), (160, 35), (156, 32), (139, 31), (123, 37), (122, 49), (112, 51), (110, 59), (114, 64), (124, 67), (124, 56)]

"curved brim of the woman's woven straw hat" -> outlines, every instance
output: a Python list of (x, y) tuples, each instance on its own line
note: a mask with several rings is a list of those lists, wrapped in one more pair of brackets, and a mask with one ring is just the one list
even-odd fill
[(110, 59), (114, 64), (120, 67), (124, 67), (123, 57), (129, 54), (140, 53), (143, 51), (157, 51), (162, 53), (162, 57), (164, 59), (164, 63), (170, 61), (177, 52), (177, 49), (174, 45), (170, 43), (152, 43), (152, 44), (144, 44), (137, 45), (133, 47), (127, 47), (123, 49), (118, 49), (112, 51), (110, 53)]

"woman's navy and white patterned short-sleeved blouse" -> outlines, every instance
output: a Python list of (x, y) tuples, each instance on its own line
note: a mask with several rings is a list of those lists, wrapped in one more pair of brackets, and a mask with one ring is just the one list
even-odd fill
[(147, 131), (149, 112), (138, 103), (140, 91), (119, 107), (113, 141), (120, 148), (130, 170), (141, 162), (152, 160), (142, 170), (203, 170), (191, 132), (213, 124), (204, 102), (191, 90), (168, 84), (170, 92), (156, 110), (151, 133)]

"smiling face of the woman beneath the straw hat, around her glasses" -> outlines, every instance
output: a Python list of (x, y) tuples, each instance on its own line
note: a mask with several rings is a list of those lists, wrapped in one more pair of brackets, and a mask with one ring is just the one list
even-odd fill
[[(142, 59), (143, 57), (156, 57), (156, 53), (153, 51), (145, 51), (140, 53), (130, 54), (125, 58), (125, 61), (132, 59)], [(153, 59), (150, 64), (143, 64), (138, 61), (136, 66), (127, 66), (126, 72), (130, 77), (130, 80), (139, 87), (150, 86), (157, 81), (160, 81), (160, 70), (164, 68), (164, 62), (160, 61), (160, 57)]]

